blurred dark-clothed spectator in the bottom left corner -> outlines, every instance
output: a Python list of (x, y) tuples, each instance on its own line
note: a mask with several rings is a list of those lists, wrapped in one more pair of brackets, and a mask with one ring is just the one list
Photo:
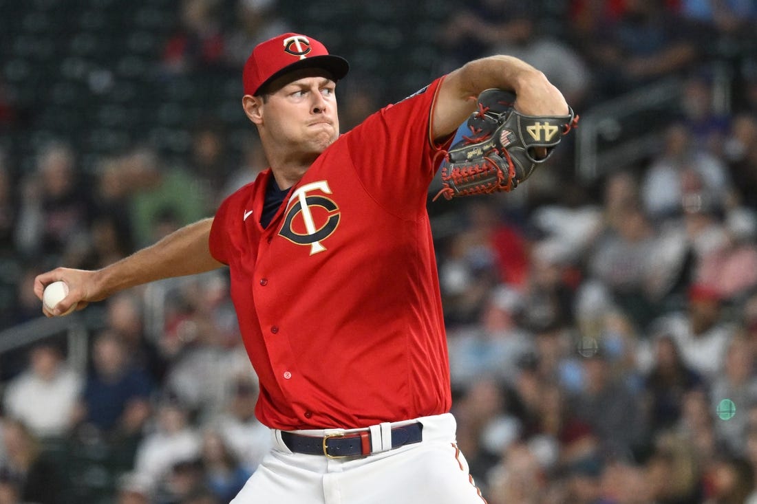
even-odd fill
[(18, 420), (3, 423), (2, 441), (6, 458), (0, 472), (17, 481), (23, 502), (63, 504), (61, 468), (49, 461), (39, 440)]

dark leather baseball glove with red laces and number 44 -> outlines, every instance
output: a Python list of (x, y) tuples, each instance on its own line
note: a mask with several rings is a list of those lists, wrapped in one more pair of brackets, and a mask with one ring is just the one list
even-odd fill
[(521, 114), (513, 107), (515, 98), (503, 89), (478, 95), (478, 110), (467, 123), (471, 135), (463, 135), (445, 154), (444, 187), (434, 200), (512, 191), (550, 158), (562, 136), (578, 123), (571, 107), (565, 116)]

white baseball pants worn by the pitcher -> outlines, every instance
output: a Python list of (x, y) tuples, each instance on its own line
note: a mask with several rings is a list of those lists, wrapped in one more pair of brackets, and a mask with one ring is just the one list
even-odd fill
[[(457, 449), (453, 415), (417, 421), (423, 425), (420, 443), (346, 459), (292, 453), (273, 430), (273, 450), (231, 504), (485, 504)], [(407, 422), (393, 425), (402, 424)]]

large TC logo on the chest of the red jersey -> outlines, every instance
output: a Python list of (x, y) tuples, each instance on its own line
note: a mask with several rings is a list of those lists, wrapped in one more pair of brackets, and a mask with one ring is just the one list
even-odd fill
[(298, 245), (310, 245), (310, 255), (326, 250), (326, 240), (339, 224), (337, 204), (320, 194), (332, 194), (329, 182), (321, 180), (297, 188), (287, 203), (286, 216), (279, 235)]

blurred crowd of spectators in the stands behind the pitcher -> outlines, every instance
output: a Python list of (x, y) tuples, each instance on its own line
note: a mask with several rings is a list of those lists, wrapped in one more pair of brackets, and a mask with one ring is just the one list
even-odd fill
[[(554, 2), (451, 2), (438, 72), (513, 54), (579, 114), (675, 75), (680, 113), (659, 118), (656, 154), (597, 179), (576, 176), (569, 137), (512, 194), (429, 203), (459, 446), (490, 504), (754, 504), (757, 2), (564, 3), (545, 24), (534, 13)], [(166, 75), (241, 67), (298, 30), (287, 13), (183, 0), (154, 58)], [(713, 61), (731, 71), (725, 111)], [(343, 131), (383, 105), (351, 64)], [(16, 119), (0, 89), (0, 131)], [(98, 268), (212, 215), (266, 167), (253, 130), (234, 151), (207, 120), (181, 158), (135, 138), (90, 170), (66, 138), (28, 173), (0, 155), (3, 334), (41, 316), (39, 272)], [(270, 440), (228, 283), (220, 270), (89, 307), (84, 370), (62, 338), (0, 359), (0, 504), (229, 502)]]

